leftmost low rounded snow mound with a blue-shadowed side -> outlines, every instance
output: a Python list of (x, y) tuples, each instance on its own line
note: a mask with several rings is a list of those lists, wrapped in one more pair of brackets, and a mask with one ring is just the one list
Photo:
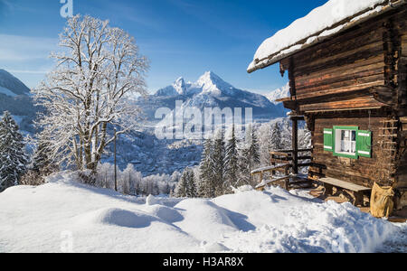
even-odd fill
[(155, 217), (139, 211), (102, 208), (81, 215), (78, 222), (89, 227), (95, 224), (102, 224), (125, 228), (145, 228), (155, 220)]

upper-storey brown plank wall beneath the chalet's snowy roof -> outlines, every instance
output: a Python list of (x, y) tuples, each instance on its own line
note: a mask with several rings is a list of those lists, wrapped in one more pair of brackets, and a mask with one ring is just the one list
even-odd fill
[(292, 68), (297, 97), (317, 97), (328, 90), (360, 84), (383, 85), (382, 24), (359, 28), (296, 54)]

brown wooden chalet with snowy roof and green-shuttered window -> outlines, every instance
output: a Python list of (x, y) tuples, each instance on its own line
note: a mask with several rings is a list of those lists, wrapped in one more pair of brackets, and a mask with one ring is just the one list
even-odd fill
[[(316, 27), (317, 14), (339, 1), (344, 13)], [(351, 10), (357, 2), (328, 1), (276, 33), (248, 72), (277, 62), (281, 75), (288, 72), (290, 97), (279, 101), (292, 110), (294, 173), (304, 119), (313, 144), (309, 180), (325, 183), (327, 194), (333, 187), (354, 192), (355, 204), (374, 182), (392, 186), (400, 209), (407, 205), (407, 4), (361, 0)], [(296, 27), (302, 35), (285, 41)]]

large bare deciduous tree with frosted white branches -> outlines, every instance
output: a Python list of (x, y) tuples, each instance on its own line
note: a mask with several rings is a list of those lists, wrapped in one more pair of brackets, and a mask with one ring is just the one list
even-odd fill
[(147, 94), (148, 61), (128, 33), (90, 16), (68, 20), (59, 45), (56, 68), (33, 90), (45, 108), (36, 125), (53, 161), (95, 173), (114, 129), (120, 135), (137, 126), (140, 110), (128, 97)]

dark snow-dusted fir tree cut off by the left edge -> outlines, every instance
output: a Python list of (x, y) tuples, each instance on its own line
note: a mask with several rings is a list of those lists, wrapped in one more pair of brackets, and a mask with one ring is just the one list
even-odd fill
[(0, 192), (17, 185), (26, 172), (28, 157), (18, 130), (13, 117), (5, 111), (0, 122)]

